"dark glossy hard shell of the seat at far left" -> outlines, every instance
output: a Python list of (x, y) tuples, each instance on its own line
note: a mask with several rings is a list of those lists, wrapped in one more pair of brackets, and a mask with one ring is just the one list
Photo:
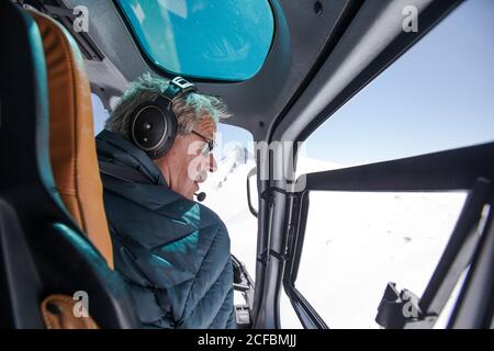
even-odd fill
[(101, 328), (136, 328), (110, 256), (82, 230), (90, 215), (72, 217), (57, 191), (44, 45), (35, 21), (11, 1), (0, 1), (0, 327), (48, 327), (42, 303), (64, 295), (86, 296)]

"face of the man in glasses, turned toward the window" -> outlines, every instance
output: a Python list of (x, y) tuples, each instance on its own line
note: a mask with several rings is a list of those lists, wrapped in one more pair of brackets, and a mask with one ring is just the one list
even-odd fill
[(203, 116), (193, 131), (186, 136), (177, 135), (167, 155), (156, 161), (170, 189), (190, 200), (207, 172), (216, 170), (214, 156), (207, 152), (207, 140), (214, 140), (216, 123)]

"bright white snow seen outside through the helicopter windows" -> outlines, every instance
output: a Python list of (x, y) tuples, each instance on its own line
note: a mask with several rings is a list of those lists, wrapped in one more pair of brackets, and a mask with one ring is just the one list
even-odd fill
[[(341, 166), (299, 160), (304, 172)], [(255, 278), (257, 219), (247, 206), (251, 155), (233, 148), (201, 191), (226, 223), (232, 252)], [(295, 286), (330, 328), (378, 328), (388, 282), (422, 295), (452, 231), (464, 193), (313, 192)], [(300, 328), (285, 294), (283, 328)]]

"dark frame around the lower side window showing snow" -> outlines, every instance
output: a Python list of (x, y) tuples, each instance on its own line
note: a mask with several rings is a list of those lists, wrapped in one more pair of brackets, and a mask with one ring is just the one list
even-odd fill
[[(420, 309), (425, 320), (417, 322), (406, 322), (401, 326), (431, 328), (437, 321), (437, 317), (446, 305), (447, 297), (451, 294), (456, 283), (461, 276), (462, 270), (458, 267), (465, 267), (471, 260), (480, 261), (476, 258), (484, 252), (485, 247), (492, 246), (494, 212), (493, 184), (494, 181), (494, 143), (487, 143), (471, 147), (452, 149), (447, 151), (427, 154), (408, 157), (398, 160), (384, 161), (346, 169), (303, 174), (306, 186), (302, 192), (290, 193), (292, 197), (292, 219), (289, 227), (293, 228), (288, 236), (288, 259), (283, 274), (283, 287), (289, 296), (304, 328), (327, 328), (324, 319), (311, 306), (308, 301), (296, 290), (295, 282), (299, 271), (300, 260), (305, 237), (305, 227), (308, 213), (308, 193), (311, 191), (349, 191), (349, 192), (424, 192), (424, 191), (468, 191), (468, 197), (463, 205), (460, 217), (454, 226), (446, 249), (442, 252), (439, 263), (419, 301)], [(299, 178), (300, 179), (300, 178)], [(490, 205), (489, 219), (483, 228), (481, 237), (474, 237), (476, 231), (473, 228), (481, 219), (484, 205)], [(487, 239), (487, 236), (490, 239)], [(469, 242), (473, 241), (471, 250)], [(485, 259), (484, 259), (485, 262)], [(491, 262), (491, 263), (489, 263)], [(467, 281), (481, 284), (482, 279), (474, 276), (489, 274), (487, 263), (476, 263), (469, 270)], [(492, 285), (492, 281), (490, 283)], [(470, 292), (475, 288), (470, 287)], [(492, 290), (492, 286), (491, 286)], [(459, 303), (479, 304), (478, 301), (469, 298), (467, 287), (463, 285), (461, 299), (454, 307), (454, 316), (468, 316), (475, 325), (479, 320), (487, 320), (489, 309), (484, 309), (484, 316), (473, 318), (471, 314), (460, 315)], [(489, 287), (482, 290), (489, 294)], [(471, 296), (471, 295), (470, 295)], [(378, 307), (378, 306), (377, 306)], [(458, 319), (458, 317), (456, 317)], [(459, 325), (467, 324), (464, 319), (450, 319)], [(483, 326), (485, 327), (485, 326)]]

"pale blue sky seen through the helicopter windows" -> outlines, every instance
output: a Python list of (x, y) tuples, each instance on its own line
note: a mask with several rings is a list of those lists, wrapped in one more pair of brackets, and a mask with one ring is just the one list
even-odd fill
[[(494, 1), (465, 1), (316, 129), (305, 156), (350, 166), (493, 141), (493, 34)], [(93, 105), (99, 131), (106, 112)], [(223, 146), (252, 138), (218, 131)]]

